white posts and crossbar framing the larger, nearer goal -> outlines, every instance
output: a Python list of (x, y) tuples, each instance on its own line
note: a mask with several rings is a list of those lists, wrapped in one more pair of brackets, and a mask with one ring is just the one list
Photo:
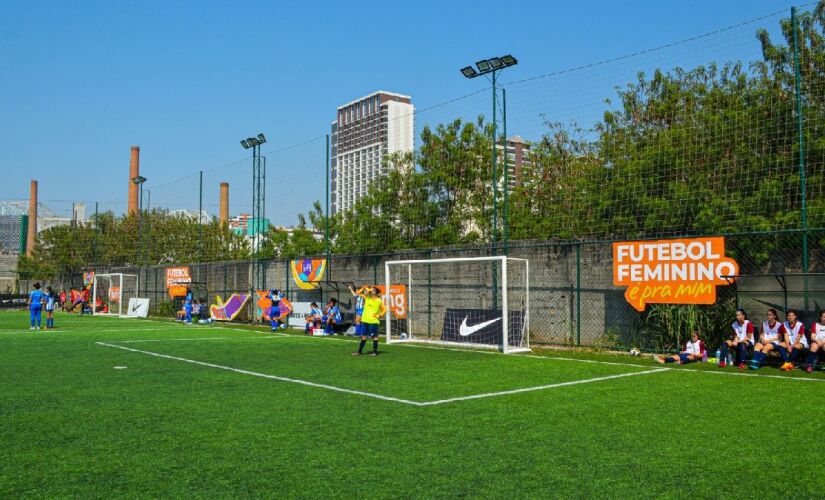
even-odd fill
[[(508, 281), (507, 281), (507, 265), (508, 262), (517, 261), (519, 263), (524, 263), (524, 320), (523, 320), (523, 342), (521, 346), (513, 346), (509, 345), (509, 303), (507, 300), (507, 288), (508, 288)], [(462, 262), (498, 262), (501, 266), (501, 283), (498, 286), (498, 293), (501, 296), (501, 312), (502, 312), (502, 343), (498, 346), (491, 345), (491, 344), (478, 344), (478, 343), (465, 343), (465, 342), (451, 342), (446, 340), (433, 340), (433, 339), (419, 339), (419, 338), (412, 338), (412, 334), (407, 339), (400, 339), (400, 338), (392, 338), (392, 312), (389, 310), (387, 311), (384, 319), (385, 328), (386, 328), (386, 342), (387, 344), (394, 344), (394, 343), (403, 343), (403, 342), (415, 342), (415, 343), (429, 343), (435, 345), (442, 345), (442, 346), (461, 346), (461, 347), (471, 347), (471, 348), (493, 348), (495, 349), (498, 347), (501, 352), (508, 354), (508, 353), (517, 353), (517, 352), (530, 352), (530, 261), (527, 259), (519, 259), (513, 257), (507, 257), (504, 255), (501, 256), (492, 256), (492, 257), (455, 257), (455, 258), (447, 258), (447, 259), (417, 259), (417, 260), (391, 260), (386, 261), (384, 263), (384, 286), (386, 287), (385, 290), (389, 291), (390, 287), (393, 283), (392, 276), (390, 273), (390, 267), (399, 267), (399, 266), (406, 266), (407, 267), (407, 297), (410, 302), (412, 302), (412, 266), (418, 264), (447, 264), (447, 263), (462, 263)], [(407, 308), (408, 311), (412, 311), (414, 304), (408, 303)], [(409, 314), (409, 313), (408, 313)]]

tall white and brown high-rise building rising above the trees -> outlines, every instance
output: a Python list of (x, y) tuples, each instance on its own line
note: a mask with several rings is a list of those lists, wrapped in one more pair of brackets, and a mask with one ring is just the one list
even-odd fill
[(332, 122), (330, 195), (333, 214), (344, 212), (385, 174), (382, 159), (412, 151), (415, 107), (410, 96), (379, 90), (338, 107)]

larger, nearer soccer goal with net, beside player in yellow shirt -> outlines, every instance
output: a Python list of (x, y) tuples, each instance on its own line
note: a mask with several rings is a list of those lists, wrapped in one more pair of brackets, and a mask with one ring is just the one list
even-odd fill
[(505, 353), (530, 350), (526, 259), (389, 261), (384, 264), (384, 278), (385, 290), (395, 290), (385, 318), (388, 344), (429, 342)]

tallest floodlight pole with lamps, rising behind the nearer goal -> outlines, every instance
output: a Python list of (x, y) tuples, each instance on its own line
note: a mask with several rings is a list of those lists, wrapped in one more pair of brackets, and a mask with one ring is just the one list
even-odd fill
[[(504, 68), (509, 68), (510, 66), (515, 66), (518, 64), (518, 60), (511, 56), (506, 55), (502, 57), (493, 57), (490, 59), (483, 59), (481, 61), (476, 62), (476, 67), (473, 68), (472, 66), (466, 66), (461, 68), (461, 74), (464, 75), (465, 78), (475, 78), (481, 75), (490, 74), (493, 80), (493, 131), (492, 131), (492, 143), (493, 143), (493, 174), (492, 174), (492, 189), (493, 189), (493, 230), (491, 235), (491, 248), (493, 255), (498, 255), (498, 171), (497, 171), (497, 164), (496, 164), (496, 142), (498, 140), (498, 121), (496, 120), (496, 97), (498, 91), (496, 89), (496, 75), (499, 71), (503, 70)], [(476, 70), (478, 68), (478, 70)], [(502, 92), (504, 89), (502, 89)], [(504, 110), (507, 109), (507, 104), (504, 104)], [(509, 239), (509, 231), (507, 230), (507, 190), (509, 188), (509, 169), (507, 168), (507, 116), (504, 116), (505, 125), (504, 125), (504, 234), (505, 234), (505, 252), (507, 249), (507, 239)], [(496, 265), (493, 265), (493, 307), (498, 307), (498, 276)]]

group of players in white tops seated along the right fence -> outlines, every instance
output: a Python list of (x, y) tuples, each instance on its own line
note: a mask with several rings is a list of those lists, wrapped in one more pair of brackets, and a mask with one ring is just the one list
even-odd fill
[[(816, 367), (819, 354), (825, 352), (825, 310), (820, 311), (819, 320), (805, 330), (805, 325), (799, 321), (799, 314), (793, 310), (785, 313), (785, 321), (779, 321), (776, 309), (768, 309), (765, 321), (755, 338), (753, 323), (748, 319), (743, 309), (736, 310), (736, 321), (731, 324), (730, 338), (725, 339), (718, 351), (718, 366), (728, 365), (728, 354), (734, 352), (733, 364), (740, 370), (750, 368), (758, 370), (765, 363), (771, 352), (776, 352), (782, 358), (780, 369), (791, 371), (799, 363), (800, 367), (811, 373)], [(657, 356), (659, 363), (685, 364), (692, 361), (707, 359), (704, 342), (699, 338), (699, 332), (693, 332), (691, 339), (685, 343), (685, 348), (679, 354), (662, 357)]]

